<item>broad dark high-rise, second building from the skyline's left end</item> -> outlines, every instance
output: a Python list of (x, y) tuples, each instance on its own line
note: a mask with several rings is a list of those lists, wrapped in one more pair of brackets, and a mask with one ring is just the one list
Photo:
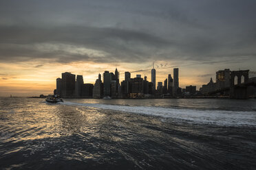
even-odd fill
[(75, 91), (76, 75), (72, 73), (62, 73), (61, 97), (73, 97)]

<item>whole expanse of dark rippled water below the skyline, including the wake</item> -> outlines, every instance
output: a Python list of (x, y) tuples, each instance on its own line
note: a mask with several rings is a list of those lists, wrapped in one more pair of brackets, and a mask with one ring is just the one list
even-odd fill
[(0, 98), (0, 169), (256, 169), (256, 100)]

